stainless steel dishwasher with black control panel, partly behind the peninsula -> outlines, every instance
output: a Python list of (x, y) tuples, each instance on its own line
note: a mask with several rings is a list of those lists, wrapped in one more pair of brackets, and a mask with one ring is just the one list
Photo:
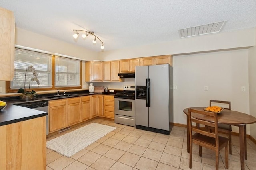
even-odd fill
[[(49, 102), (44, 101), (44, 102), (19, 103), (19, 104), (14, 104), (14, 105), (21, 106), (21, 107), (27, 107), (30, 109), (44, 111), (44, 112), (48, 113)], [(46, 115), (46, 135), (48, 135), (48, 134), (49, 134), (49, 120), (48, 120), (48, 115)]]

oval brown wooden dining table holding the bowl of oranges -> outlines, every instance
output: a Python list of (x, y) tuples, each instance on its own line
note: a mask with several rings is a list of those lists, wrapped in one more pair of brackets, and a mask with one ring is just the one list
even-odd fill
[[(203, 110), (205, 107), (190, 107), (191, 109)], [(187, 129), (188, 129), (188, 108), (184, 109), (183, 112), (187, 116)], [(196, 114), (196, 113), (194, 113)], [(256, 123), (256, 118), (246, 113), (238, 111), (224, 109), (218, 114), (218, 123), (227, 125), (234, 125), (239, 127), (239, 143), (240, 143), (240, 160), (241, 170), (244, 170), (244, 159), (247, 160), (247, 142), (246, 142), (246, 125)], [(193, 113), (192, 113), (193, 116)], [(198, 118), (204, 119), (204, 116), (196, 115)], [(209, 119), (209, 117), (207, 117)], [(214, 121), (214, 119), (212, 120)], [(187, 131), (187, 149), (189, 153), (189, 131)]]

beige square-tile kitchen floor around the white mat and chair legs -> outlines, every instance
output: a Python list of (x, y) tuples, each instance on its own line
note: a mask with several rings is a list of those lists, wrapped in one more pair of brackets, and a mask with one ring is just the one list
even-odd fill
[[(74, 127), (53, 139), (92, 122), (116, 127), (98, 141), (92, 143), (70, 158), (46, 149), (47, 170), (189, 170), (186, 128), (173, 127), (170, 135), (143, 131), (104, 119), (94, 119)], [(192, 170), (215, 170), (214, 152), (193, 146)], [(245, 169), (256, 169), (256, 145), (247, 140)], [(224, 150), (220, 151), (219, 169), (224, 167)], [(229, 155), (229, 170), (240, 170), (239, 138), (232, 136), (232, 155)]]

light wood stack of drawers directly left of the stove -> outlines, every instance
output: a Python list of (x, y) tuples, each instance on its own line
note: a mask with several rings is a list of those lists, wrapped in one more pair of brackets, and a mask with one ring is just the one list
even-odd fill
[(115, 101), (114, 95), (104, 95), (104, 117), (114, 118)]

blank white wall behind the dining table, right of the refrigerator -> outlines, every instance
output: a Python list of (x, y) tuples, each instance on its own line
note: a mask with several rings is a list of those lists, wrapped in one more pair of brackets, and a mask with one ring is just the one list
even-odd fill
[(232, 109), (249, 114), (248, 49), (174, 56), (173, 65), (175, 123), (186, 124), (184, 108), (209, 106), (210, 99), (231, 101)]

